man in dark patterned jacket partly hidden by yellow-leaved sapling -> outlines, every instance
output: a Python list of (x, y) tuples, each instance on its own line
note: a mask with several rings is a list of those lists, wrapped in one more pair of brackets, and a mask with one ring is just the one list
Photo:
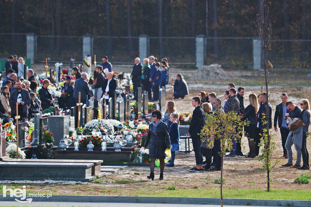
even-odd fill
[[(239, 99), (236, 97), (236, 90), (235, 88), (230, 88), (229, 90), (229, 99), (227, 102), (227, 107), (225, 109), (225, 113), (228, 113), (230, 111), (234, 111), (238, 115), (240, 114), (240, 102)], [(237, 129), (236, 129), (237, 130)], [(228, 157), (235, 157), (236, 153), (236, 140), (232, 139), (232, 150), (230, 151), (230, 154), (226, 154), (225, 156)]]

